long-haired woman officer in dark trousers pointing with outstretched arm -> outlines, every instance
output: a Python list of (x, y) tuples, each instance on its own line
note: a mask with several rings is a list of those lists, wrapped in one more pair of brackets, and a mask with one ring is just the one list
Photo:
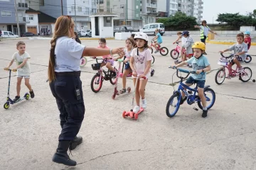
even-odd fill
[(80, 58), (82, 56), (124, 55), (123, 48), (105, 50), (80, 45), (72, 38), (74, 27), (75, 23), (70, 16), (60, 16), (57, 19), (53, 39), (50, 41), (48, 66), (50, 90), (60, 111), (62, 128), (53, 162), (67, 166), (76, 165), (76, 162), (67, 154), (68, 148), (75, 149), (82, 143), (82, 137), (77, 137), (85, 114), (82, 82), (80, 81)]

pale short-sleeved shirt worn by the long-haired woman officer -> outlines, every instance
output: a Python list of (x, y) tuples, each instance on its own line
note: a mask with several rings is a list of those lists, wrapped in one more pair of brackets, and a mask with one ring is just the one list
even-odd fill
[(80, 71), (80, 59), (84, 49), (85, 46), (73, 38), (58, 38), (55, 46), (55, 72)]

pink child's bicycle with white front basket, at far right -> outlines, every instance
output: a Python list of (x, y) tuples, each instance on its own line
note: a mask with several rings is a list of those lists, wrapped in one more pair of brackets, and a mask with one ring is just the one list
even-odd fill
[(221, 65), (222, 67), (215, 74), (216, 84), (223, 84), (225, 78), (231, 79), (234, 77), (239, 77), (240, 81), (242, 82), (247, 82), (249, 80), (252, 80), (252, 82), (255, 82), (255, 79), (251, 79), (252, 70), (249, 67), (243, 67), (242, 72), (238, 73), (238, 67), (236, 67), (236, 69), (232, 69), (232, 67), (230, 67), (230, 65), (228, 64), (229, 62), (228, 58), (233, 57), (233, 55), (230, 55), (228, 57), (225, 57), (221, 53), (220, 55), (223, 58), (220, 58), (220, 60), (218, 61), (218, 64)]

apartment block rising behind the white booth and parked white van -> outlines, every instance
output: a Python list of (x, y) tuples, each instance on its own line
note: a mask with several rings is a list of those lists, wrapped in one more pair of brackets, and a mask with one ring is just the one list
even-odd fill
[(117, 14), (114, 26), (132, 26), (139, 30), (147, 23), (156, 22), (156, 17), (166, 16), (166, 0), (100, 0), (97, 11)]

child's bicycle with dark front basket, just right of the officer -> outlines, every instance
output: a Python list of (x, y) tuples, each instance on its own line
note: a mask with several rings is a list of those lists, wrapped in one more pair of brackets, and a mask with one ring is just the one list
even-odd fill
[[(102, 59), (102, 58), (95, 58), (95, 57), (91, 57), (93, 59), (96, 60), (96, 64), (92, 64), (92, 69), (93, 70), (97, 70), (97, 73), (95, 74), (94, 77), (92, 77), (92, 81), (91, 81), (91, 89), (93, 92), (97, 93), (100, 91), (100, 89), (102, 88), (102, 83), (104, 80), (110, 80), (111, 84), (116, 84), (117, 82), (117, 69), (114, 67), (115, 72), (117, 72), (117, 75), (113, 75), (113, 72), (110, 71), (110, 69), (108, 69), (107, 71), (105, 71), (104, 69), (102, 69), (102, 67), (100, 67), (100, 65), (102, 63), (99, 63), (97, 60), (102, 60), (102, 62), (104, 62), (107, 59)], [(103, 75), (104, 74), (104, 75)], [(95, 87), (96, 86), (96, 87)]]

